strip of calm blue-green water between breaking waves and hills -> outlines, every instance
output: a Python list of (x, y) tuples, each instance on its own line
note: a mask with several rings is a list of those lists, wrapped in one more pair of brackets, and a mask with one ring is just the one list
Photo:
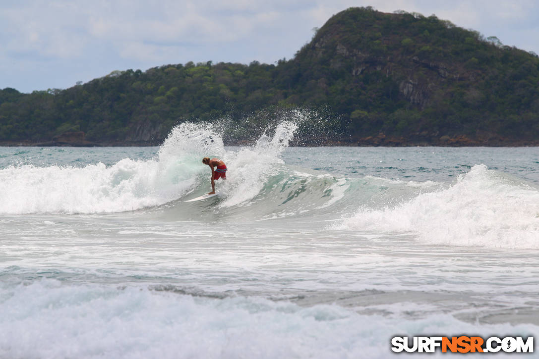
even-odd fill
[[(241, 147), (227, 147), (237, 151)], [(159, 147), (0, 147), (0, 166), (31, 164), (84, 167), (114, 165), (123, 158), (155, 158)], [(537, 147), (290, 147), (286, 164), (343, 177), (379, 175), (389, 179), (451, 182), (477, 164), (539, 181)]]

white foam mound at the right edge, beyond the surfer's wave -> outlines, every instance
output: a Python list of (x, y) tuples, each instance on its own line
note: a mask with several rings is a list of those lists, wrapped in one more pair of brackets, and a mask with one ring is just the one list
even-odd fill
[(450, 188), (362, 208), (342, 228), (417, 233), (430, 244), (539, 248), (539, 191), (476, 165)]

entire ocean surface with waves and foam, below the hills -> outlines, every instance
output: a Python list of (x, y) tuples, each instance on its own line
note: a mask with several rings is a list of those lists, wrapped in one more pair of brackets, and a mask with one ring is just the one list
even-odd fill
[[(288, 147), (295, 129), (243, 147), (188, 123), (160, 147), (0, 147), (0, 357), (539, 339), (537, 147)], [(211, 189), (206, 156), (227, 181), (186, 203)]]

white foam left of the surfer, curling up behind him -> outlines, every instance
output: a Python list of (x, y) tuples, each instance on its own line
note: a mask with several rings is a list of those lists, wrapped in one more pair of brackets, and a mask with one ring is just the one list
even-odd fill
[(162, 205), (182, 196), (204, 170), (204, 154), (224, 152), (204, 125), (171, 131), (157, 158), (125, 158), (112, 166), (33, 165), (0, 170), (0, 214), (110, 213)]

